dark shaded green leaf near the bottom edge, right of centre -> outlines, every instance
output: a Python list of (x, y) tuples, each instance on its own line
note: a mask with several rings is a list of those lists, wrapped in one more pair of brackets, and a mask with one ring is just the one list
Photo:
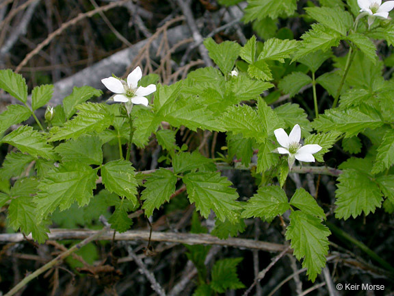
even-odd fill
[(211, 288), (218, 293), (245, 288), (237, 275), (237, 265), (242, 260), (243, 258), (226, 258), (216, 261), (211, 271)]

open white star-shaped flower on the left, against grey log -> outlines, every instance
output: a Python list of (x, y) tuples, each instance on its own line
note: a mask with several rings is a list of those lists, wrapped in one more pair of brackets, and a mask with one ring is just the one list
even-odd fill
[(105, 87), (111, 90), (112, 93), (116, 93), (116, 95), (114, 95), (114, 101), (122, 103), (131, 102), (133, 104), (148, 106), (148, 99), (144, 96), (155, 93), (156, 86), (155, 84), (150, 84), (146, 87), (138, 87), (138, 82), (141, 77), (141, 68), (137, 66), (137, 68), (127, 76), (127, 83), (115, 77), (101, 79), (101, 82), (103, 82)]

